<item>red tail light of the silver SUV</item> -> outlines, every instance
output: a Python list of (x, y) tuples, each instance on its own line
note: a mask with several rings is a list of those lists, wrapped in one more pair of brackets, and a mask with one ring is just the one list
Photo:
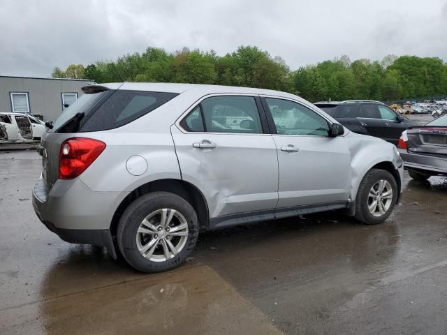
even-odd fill
[(105, 143), (86, 137), (72, 137), (61, 144), (59, 179), (78, 177), (105, 149)]

